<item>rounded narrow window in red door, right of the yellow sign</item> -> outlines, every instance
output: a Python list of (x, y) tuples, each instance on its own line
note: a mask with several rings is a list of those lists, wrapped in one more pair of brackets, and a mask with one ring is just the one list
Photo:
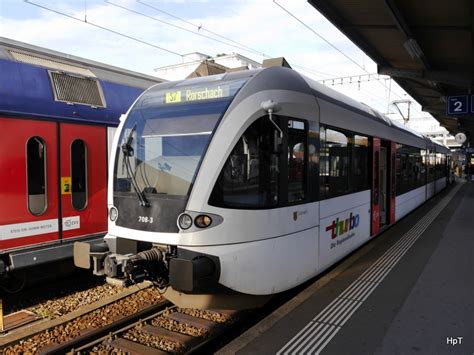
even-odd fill
[(72, 207), (80, 211), (87, 206), (87, 147), (83, 140), (71, 144)]

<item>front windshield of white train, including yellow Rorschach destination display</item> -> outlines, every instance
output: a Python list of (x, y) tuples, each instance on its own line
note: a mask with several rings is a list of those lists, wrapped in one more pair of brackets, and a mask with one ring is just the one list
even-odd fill
[(142, 205), (156, 196), (186, 198), (211, 136), (244, 80), (209, 80), (145, 93), (122, 129), (114, 192)]

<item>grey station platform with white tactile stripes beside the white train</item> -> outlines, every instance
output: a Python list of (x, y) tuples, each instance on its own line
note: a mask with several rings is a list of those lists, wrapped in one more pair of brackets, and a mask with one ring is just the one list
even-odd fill
[(473, 225), (460, 180), (218, 354), (474, 354)]

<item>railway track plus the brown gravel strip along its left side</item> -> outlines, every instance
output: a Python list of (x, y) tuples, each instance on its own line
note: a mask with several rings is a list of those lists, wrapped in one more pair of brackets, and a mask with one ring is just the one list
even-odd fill
[(242, 312), (180, 309), (147, 287), (0, 337), (0, 353), (189, 353), (240, 322)]

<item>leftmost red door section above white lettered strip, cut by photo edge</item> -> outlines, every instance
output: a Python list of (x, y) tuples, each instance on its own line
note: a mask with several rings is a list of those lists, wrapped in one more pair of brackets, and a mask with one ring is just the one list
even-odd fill
[(54, 122), (0, 118), (0, 250), (57, 241)]

